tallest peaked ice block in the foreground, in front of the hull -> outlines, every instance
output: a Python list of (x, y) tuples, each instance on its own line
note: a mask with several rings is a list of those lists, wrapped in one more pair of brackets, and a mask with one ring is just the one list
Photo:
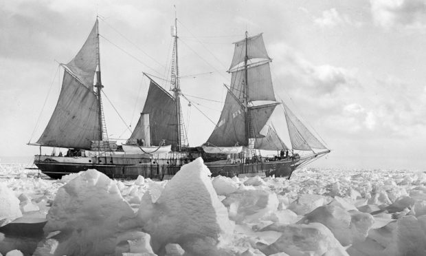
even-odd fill
[(152, 237), (155, 252), (166, 244), (179, 244), (194, 255), (220, 255), (221, 237), (232, 234), (234, 224), (218, 200), (209, 169), (201, 158), (181, 167), (157, 202), (146, 193), (138, 218), (144, 232)]

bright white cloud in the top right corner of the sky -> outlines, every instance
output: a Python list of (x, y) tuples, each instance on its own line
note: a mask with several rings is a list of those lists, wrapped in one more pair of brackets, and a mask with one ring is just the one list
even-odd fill
[(426, 27), (423, 0), (370, 0), (374, 23), (385, 29)]

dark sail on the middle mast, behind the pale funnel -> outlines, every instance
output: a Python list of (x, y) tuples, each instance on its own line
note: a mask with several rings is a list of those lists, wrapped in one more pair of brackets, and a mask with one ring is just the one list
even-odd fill
[[(153, 80), (150, 80), (142, 112), (149, 113), (151, 145), (159, 145), (162, 140), (166, 140), (166, 145), (176, 147), (178, 127), (175, 98)], [(144, 139), (144, 129), (141, 125), (142, 122), (139, 120), (131, 139)]]

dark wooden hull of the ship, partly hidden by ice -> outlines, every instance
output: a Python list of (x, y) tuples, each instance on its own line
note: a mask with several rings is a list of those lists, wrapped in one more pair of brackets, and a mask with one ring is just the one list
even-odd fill
[[(113, 162), (113, 163), (111, 163)], [(51, 178), (61, 178), (69, 173), (78, 173), (87, 169), (96, 169), (110, 178), (135, 179), (138, 175), (146, 178), (163, 180), (175, 175), (183, 164), (190, 162), (190, 159), (111, 159), (96, 163), (96, 158), (79, 157), (48, 157), (36, 156), (34, 164)], [(276, 177), (290, 177), (291, 173), (298, 167), (298, 159), (285, 158), (273, 161), (255, 161), (240, 163), (230, 163), (226, 160), (215, 162), (205, 162), (205, 165), (212, 172), (212, 176), (223, 175), (227, 177), (254, 176), (254, 175), (275, 175)]]

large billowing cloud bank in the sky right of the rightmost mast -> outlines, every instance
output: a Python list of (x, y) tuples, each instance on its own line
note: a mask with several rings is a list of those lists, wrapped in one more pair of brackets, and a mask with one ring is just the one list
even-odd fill
[[(360, 78), (357, 70), (315, 65), (282, 43), (272, 45), (273, 67), (296, 107), (314, 127), (348, 138), (407, 137), (426, 128), (426, 89), (392, 76)], [(278, 85), (280, 94), (284, 90)], [(333, 135), (333, 136), (335, 136)]]

